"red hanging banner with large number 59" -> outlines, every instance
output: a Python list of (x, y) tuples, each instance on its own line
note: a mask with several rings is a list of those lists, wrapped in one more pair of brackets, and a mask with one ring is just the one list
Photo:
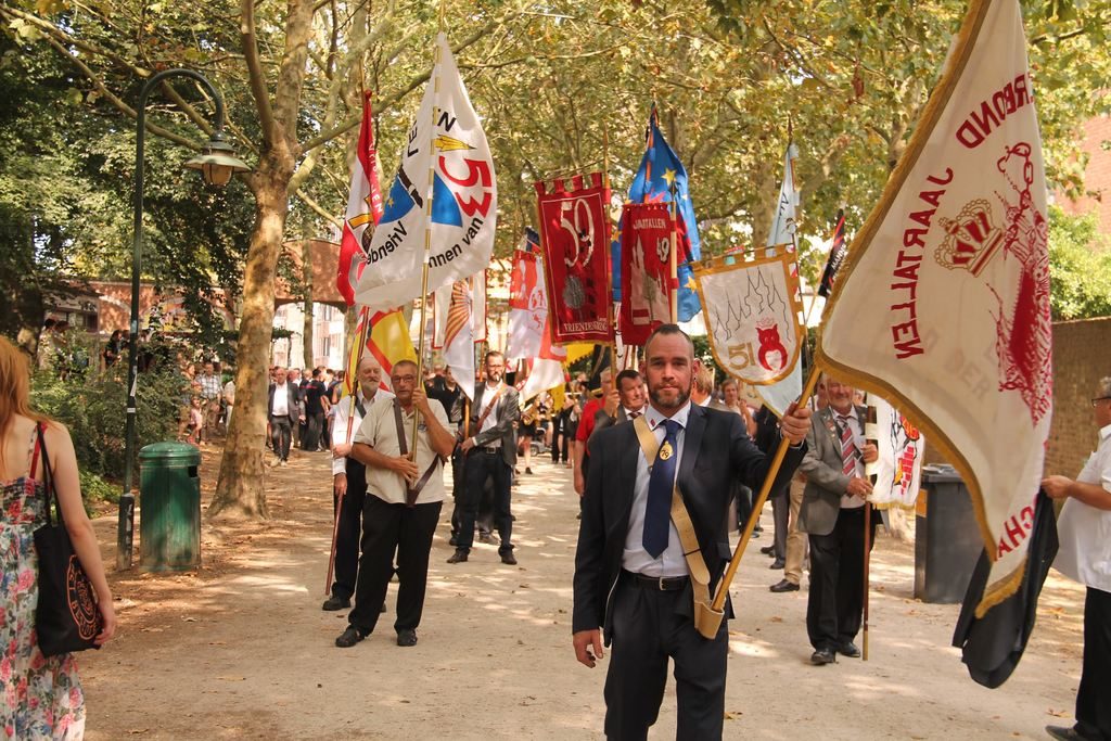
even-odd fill
[(552, 341), (610, 343), (610, 189), (600, 172), (536, 188)]

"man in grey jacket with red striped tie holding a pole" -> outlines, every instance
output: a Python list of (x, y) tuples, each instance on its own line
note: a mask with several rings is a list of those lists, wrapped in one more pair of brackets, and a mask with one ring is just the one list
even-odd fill
[(799, 530), (810, 537), (807, 633), (817, 665), (833, 663), (838, 653), (860, 655), (853, 639), (864, 605), (864, 499), (872, 491), (864, 463), (878, 455), (864, 442), (865, 408), (853, 404), (854, 389), (829, 377), (825, 388), (829, 407), (813, 415), (799, 464), (807, 474)]

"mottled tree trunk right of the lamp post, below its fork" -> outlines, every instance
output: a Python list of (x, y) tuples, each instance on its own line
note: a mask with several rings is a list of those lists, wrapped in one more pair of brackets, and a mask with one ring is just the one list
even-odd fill
[[(259, 163), (254, 189), (254, 229), (243, 270), (243, 316), (239, 322), (236, 352), (236, 413), (220, 461), (220, 479), (208, 517), (267, 518), (263, 490), (263, 437), (266, 435), (267, 369), (274, 318), (274, 283), (278, 254), (289, 201), (286, 186), (291, 167), (281, 167), (270, 152)], [(267, 161), (269, 160), (269, 161)], [(269, 164), (269, 167), (267, 167)]]

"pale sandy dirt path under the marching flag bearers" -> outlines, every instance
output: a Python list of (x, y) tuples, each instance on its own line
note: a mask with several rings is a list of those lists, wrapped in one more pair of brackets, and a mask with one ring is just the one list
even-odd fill
[[(203, 458), (207, 503), (219, 451)], [(294, 453), (288, 468), (268, 469), (272, 519), (206, 522), (201, 569), (110, 574), (119, 637), (79, 659), (87, 738), (601, 738), (604, 662), (588, 670), (571, 650), (570, 471), (550, 460), (533, 470), (514, 489), (520, 565), (502, 565), (492, 545), (476, 545), (466, 564), (446, 563), (449, 499), (420, 642), (393, 643), (394, 584), (376, 633), (337, 649), (346, 613), (320, 610), (328, 458)], [(769, 508), (769, 530), (770, 519)], [(114, 514), (96, 527), (114, 564)], [(1075, 584), (1050, 577), (1022, 663), (1001, 689), (987, 690), (949, 648), (959, 605), (914, 601), (913, 548), (881, 538), (870, 660), (817, 668), (805, 587), (768, 591), (779, 574), (757, 550), (767, 542), (754, 541), (734, 582), (725, 738), (1039, 739), (1047, 723), (1072, 723), (1083, 610)], [(674, 738), (671, 684), (653, 739)]]

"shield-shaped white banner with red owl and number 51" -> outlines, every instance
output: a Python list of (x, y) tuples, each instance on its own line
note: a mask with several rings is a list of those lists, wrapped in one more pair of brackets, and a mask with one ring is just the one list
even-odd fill
[(799, 362), (803, 336), (793, 266), (794, 254), (785, 251), (694, 263), (710, 349), (733, 378), (754, 385), (775, 383)]

